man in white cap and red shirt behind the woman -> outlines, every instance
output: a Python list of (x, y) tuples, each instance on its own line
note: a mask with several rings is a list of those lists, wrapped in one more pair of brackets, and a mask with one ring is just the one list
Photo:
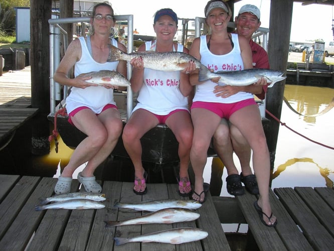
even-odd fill
[[(260, 27), (260, 10), (254, 5), (244, 5), (241, 7), (238, 16), (235, 17), (236, 31), (239, 36), (243, 36), (249, 40), (253, 56), (253, 68), (269, 69), (269, 61), (267, 52), (258, 44), (252, 41), (253, 33)], [(265, 82), (266, 84), (266, 82)], [(256, 94), (260, 99), (264, 99), (267, 85), (262, 86), (262, 92), (256, 85), (247, 86), (247, 92)], [(227, 127), (227, 124), (229, 127)], [(230, 132), (227, 132), (227, 131)], [(230, 145), (231, 137), (233, 149)], [(230, 122), (222, 119), (221, 124), (217, 128), (213, 137), (213, 147), (223, 163), (233, 163), (233, 150), (239, 158), (242, 172), (239, 175), (237, 168), (234, 165), (226, 165), (228, 177), (226, 178), (226, 186), (228, 193), (232, 195), (244, 194), (244, 189), (241, 182), (244, 183), (246, 190), (251, 194), (258, 194), (256, 177), (252, 174), (250, 168), (251, 150), (246, 139), (241, 135), (240, 131)], [(231, 152), (232, 150), (232, 152)], [(268, 167), (269, 168), (269, 167)], [(212, 177), (221, 177), (222, 170), (212, 170), (219, 172), (220, 175), (212, 175)], [(211, 181), (210, 183), (215, 183)]]

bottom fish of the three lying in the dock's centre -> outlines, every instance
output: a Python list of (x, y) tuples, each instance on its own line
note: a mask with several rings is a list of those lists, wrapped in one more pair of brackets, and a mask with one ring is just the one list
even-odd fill
[(128, 242), (162, 242), (171, 244), (181, 244), (204, 239), (208, 232), (196, 227), (174, 228), (153, 233), (147, 233), (134, 237), (114, 237), (116, 245)]

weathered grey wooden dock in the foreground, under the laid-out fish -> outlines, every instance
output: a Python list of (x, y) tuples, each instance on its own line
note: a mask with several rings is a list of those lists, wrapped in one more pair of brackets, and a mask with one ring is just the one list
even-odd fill
[[(240, 209), (260, 250), (323, 251), (334, 246), (334, 190), (330, 188), (278, 188), (274, 189), (277, 196), (271, 191), (273, 211), (278, 218), (275, 228), (260, 222), (253, 207), (256, 197), (249, 193), (236, 198), (212, 197), (209, 193), (207, 201), (197, 209), (201, 216), (196, 221), (105, 228), (104, 220), (124, 220), (143, 213), (114, 208), (116, 201), (183, 199), (177, 193), (177, 184), (148, 183), (148, 193), (139, 196), (132, 192), (131, 182), (104, 181), (102, 192), (107, 200), (103, 209), (35, 211), (39, 197), (53, 195), (56, 181), (0, 175), (0, 250), (231, 250), (220, 223), (226, 223), (222, 218), (234, 218)], [(71, 191), (78, 188), (74, 180)], [(233, 211), (235, 205), (239, 209)], [(115, 236), (176, 227), (199, 227), (209, 235), (201, 241), (177, 245), (134, 242), (117, 246), (113, 240)]]

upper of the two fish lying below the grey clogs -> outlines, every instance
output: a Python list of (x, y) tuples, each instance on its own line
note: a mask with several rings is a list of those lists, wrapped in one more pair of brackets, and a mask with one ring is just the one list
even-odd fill
[(40, 205), (46, 205), (49, 202), (61, 202), (66, 200), (75, 200), (75, 199), (88, 199), (95, 201), (104, 201), (106, 198), (103, 193), (87, 193), (87, 192), (77, 192), (77, 193), (64, 193), (64, 194), (55, 194), (52, 197), (39, 198)]

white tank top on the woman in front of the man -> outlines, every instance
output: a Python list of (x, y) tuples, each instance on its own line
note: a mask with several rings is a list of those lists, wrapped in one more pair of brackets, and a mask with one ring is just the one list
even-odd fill
[[(225, 55), (215, 55), (209, 49), (207, 45), (206, 35), (201, 36), (200, 41), (200, 54), (201, 63), (208, 69), (214, 69), (217, 71), (240, 71), (244, 69), (244, 64), (241, 58), (240, 45), (237, 34), (231, 34), (234, 47), (232, 51)], [(230, 97), (222, 98), (217, 97), (213, 92), (214, 87), (217, 84), (210, 79), (206, 82), (197, 85), (195, 97), (193, 101), (204, 102), (216, 102), (216, 103), (235, 103), (241, 100), (254, 98), (253, 94), (249, 92), (238, 92)]]

